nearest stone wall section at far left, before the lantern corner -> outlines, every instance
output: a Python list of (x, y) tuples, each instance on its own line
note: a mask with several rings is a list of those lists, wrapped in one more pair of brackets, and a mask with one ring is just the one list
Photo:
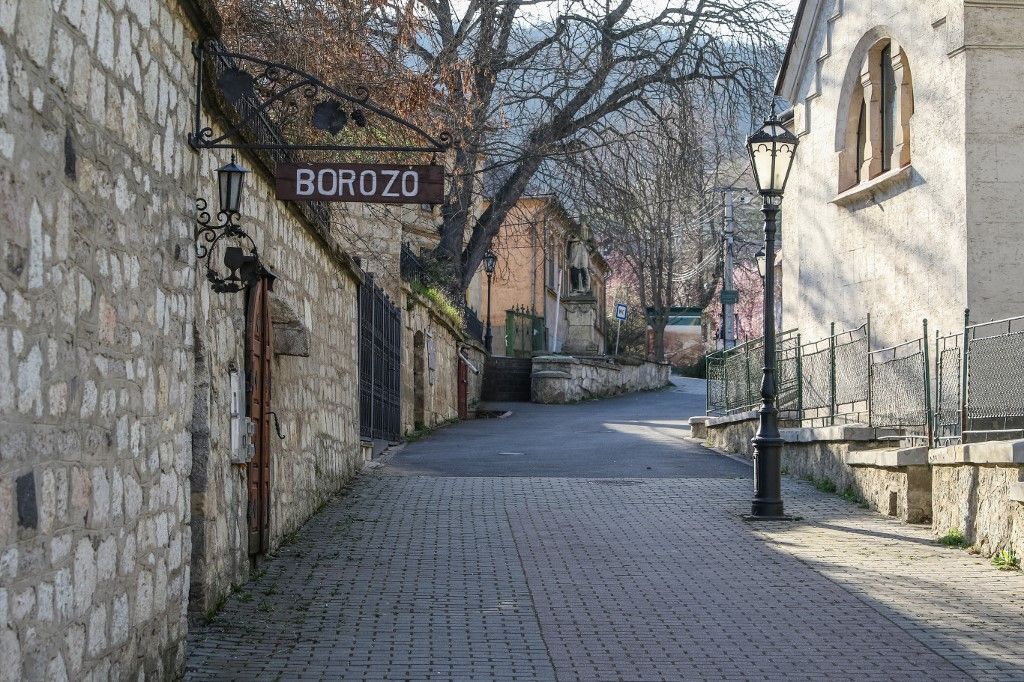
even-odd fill
[(197, 172), (183, 7), (0, 5), (0, 679), (182, 670)]

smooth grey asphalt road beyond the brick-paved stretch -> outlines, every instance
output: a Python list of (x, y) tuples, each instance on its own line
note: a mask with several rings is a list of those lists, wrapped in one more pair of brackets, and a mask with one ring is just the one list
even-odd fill
[[(751, 469), (686, 439), (702, 383), (566, 406), (514, 402), (504, 419), (438, 429), (391, 457), (386, 472), (429, 476), (732, 478)], [(494, 409), (498, 406), (488, 406)]]

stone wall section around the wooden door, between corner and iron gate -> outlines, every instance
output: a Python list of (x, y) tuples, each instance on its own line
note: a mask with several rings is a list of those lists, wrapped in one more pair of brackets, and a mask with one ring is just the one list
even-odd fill
[[(216, 191), (224, 155), (205, 152), (200, 196)], [(276, 274), (270, 293), (274, 353), (270, 410), (270, 546), (297, 528), (361, 465), (358, 449), (358, 278), (325, 248), (259, 172), (247, 177), (241, 222)], [(200, 265), (202, 270), (203, 265)], [(200, 274), (204, 274), (200, 272)], [(197, 411), (194, 418), (190, 608), (210, 611), (247, 580), (247, 467), (229, 460), (228, 369), (245, 369), (246, 297), (217, 294), (201, 281), (196, 321)], [(302, 341), (292, 343), (289, 335)], [(299, 354), (301, 353), (301, 354)]]

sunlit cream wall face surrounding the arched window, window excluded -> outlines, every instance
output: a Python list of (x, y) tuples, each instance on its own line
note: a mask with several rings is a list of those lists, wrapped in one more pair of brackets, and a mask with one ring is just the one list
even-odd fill
[[(931, 329), (963, 325), (972, 178), (962, 10), (962, 0), (808, 2), (813, 31), (792, 55), (783, 92), (800, 147), (782, 204), (783, 318), (806, 339), (826, 337), (830, 322), (857, 327), (867, 313), (879, 346), (921, 336), (923, 317)], [(850, 65), (856, 71), (885, 37), (906, 50), (912, 76), (910, 167), (837, 202)]]

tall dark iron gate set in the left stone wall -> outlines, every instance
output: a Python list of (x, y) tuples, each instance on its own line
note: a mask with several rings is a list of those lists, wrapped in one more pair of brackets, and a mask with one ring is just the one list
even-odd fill
[(367, 274), (359, 286), (359, 436), (401, 434), (401, 311)]

